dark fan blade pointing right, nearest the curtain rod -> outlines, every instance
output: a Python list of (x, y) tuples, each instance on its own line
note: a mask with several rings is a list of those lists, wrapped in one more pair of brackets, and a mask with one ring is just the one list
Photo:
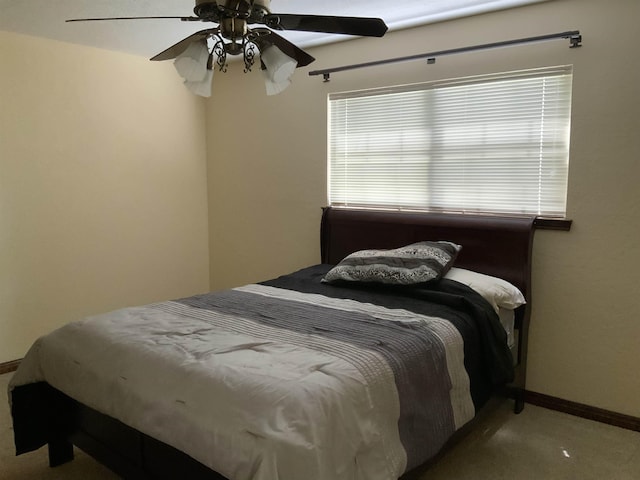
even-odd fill
[(265, 15), (264, 23), (276, 30), (342, 33), (365, 37), (382, 37), (387, 31), (387, 25), (381, 18), (272, 13)]

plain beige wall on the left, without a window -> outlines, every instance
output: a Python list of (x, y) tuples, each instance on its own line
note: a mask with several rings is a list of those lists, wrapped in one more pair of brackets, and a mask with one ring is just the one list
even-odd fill
[(0, 32), (0, 363), (209, 287), (204, 102), (170, 64)]

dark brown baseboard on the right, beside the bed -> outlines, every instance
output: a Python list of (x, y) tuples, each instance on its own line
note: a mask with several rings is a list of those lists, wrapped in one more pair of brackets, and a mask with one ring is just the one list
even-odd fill
[(582, 403), (563, 400), (561, 398), (552, 397), (543, 393), (525, 391), (524, 400), (532, 405), (556, 410), (558, 412), (568, 413), (576, 417), (582, 417), (596, 422), (606, 423), (616, 427), (625, 428), (640, 432), (640, 418), (624, 415), (622, 413), (604, 410), (602, 408), (591, 407)]

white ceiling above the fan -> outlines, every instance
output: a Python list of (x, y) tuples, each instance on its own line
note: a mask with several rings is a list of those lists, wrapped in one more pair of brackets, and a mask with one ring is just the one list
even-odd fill
[[(273, 0), (274, 13), (380, 17), (398, 30), (545, 0)], [(71, 18), (190, 16), (194, 0), (0, 0), (0, 30), (152, 57), (204, 28), (200, 22), (125, 20), (65, 23)], [(305, 48), (344, 35), (284, 32)]]

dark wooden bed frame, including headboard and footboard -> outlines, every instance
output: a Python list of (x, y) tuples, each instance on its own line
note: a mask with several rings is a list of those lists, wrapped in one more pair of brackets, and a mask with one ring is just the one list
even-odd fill
[[(533, 217), (493, 217), (325, 208), (321, 225), (323, 263), (338, 263), (367, 248), (394, 248), (419, 240), (449, 240), (463, 246), (456, 266), (497, 276), (516, 285), (531, 301)], [(515, 411), (524, 406), (530, 308), (516, 311), (516, 379), (508, 386)], [(43, 395), (59, 403), (61, 426), (49, 447), (51, 466), (73, 459), (73, 445), (124, 478), (225, 480), (188, 455), (92, 410), (44, 385)], [(408, 474), (410, 476), (410, 474)], [(404, 477), (403, 477), (404, 478)]]

